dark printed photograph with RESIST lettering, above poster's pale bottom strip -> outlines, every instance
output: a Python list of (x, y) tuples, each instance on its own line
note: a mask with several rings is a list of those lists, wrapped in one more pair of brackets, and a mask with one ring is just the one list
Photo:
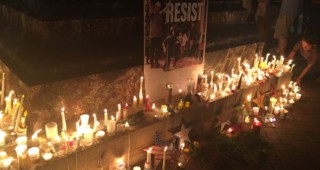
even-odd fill
[(164, 72), (202, 64), (207, 0), (145, 0), (145, 67)]

